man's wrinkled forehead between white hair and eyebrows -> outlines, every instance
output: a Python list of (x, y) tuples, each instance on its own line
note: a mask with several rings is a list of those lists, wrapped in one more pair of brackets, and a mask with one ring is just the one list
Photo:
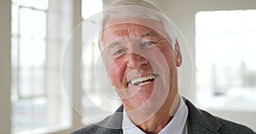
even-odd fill
[(104, 27), (102, 31), (102, 43), (104, 46), (119, 37), (163, 36), (166, 38), (164, 26), (157, 20), (109, 19)]

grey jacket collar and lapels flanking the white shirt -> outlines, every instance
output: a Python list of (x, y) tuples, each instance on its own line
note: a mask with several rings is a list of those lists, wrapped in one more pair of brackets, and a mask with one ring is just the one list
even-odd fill
[[(221, 123), (211, 114), (207, 112), (196, 109), (195, 106), (189, 102), (186, 98), (183, 98), (184, 102), (188, 106), (188, 133), (207, 133), (207, 134), (219, 134), (218, 130), (222, 126)], [(99, 126), (103, 126), (105, 129), (102, 130), (103, 133), (120, 134), (122, 131), (122, 120), (123, 120), (123, 105), (117, 109), (117, 111), (109, 116), (107, 119), (103, 120)], [(110, 129), (109, 129), (110, 128)], [(112, 129), (116, 128), (116, 129)]]

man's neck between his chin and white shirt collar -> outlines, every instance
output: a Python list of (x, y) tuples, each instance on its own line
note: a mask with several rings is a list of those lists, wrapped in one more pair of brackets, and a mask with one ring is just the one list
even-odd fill
[(142, 115), (142, 113), (137, 113), (132, 115), (129, 114), (129, 116), (131, 120), (135, 124), (137, 124), (137, 127), (139, 127), (144, 132), (150, 133), (150, 134), (159, 133), (172, 120), (172, 117), (177, 111), (179, 101), (180, 100), (179, 100), (178, 94), (174, 99), (166, 100), (163, 106), (148, 120), (143, 121), (143, 123), (136, 123), (137, 119), (147, 115), (145, 114)]

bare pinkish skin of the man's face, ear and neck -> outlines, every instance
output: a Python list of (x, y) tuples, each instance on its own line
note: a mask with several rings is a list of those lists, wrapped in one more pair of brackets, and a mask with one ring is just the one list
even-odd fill
[[(142, 131), (160, 132), (179, 103), (177, 67), (182, 55), (178, 42), (172, 48), (158, 32), (131, 23), (108, 27), (102, 42), (109, 79), (126, 113)], [(154, 79), (142, 85), (131, 82), (148, 76)]]

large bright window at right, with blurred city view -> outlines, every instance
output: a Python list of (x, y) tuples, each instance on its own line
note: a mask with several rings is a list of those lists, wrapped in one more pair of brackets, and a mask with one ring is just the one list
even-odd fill
[(195, 16), (196, 101), (203, 108), (256, 111), (256, 10)]

